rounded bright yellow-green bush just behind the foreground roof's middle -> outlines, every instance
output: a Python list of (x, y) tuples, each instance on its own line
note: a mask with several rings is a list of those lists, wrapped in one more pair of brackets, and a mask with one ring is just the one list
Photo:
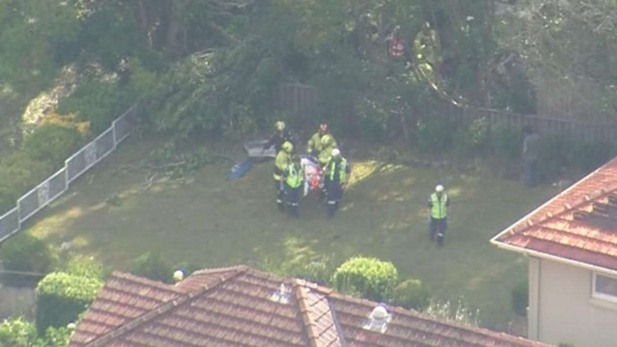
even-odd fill
[(342, 293), (383, 301), (391, 298), (398, 278), (392, 262), (373, 257), (352, 257), (336, 269), (332, 282)]

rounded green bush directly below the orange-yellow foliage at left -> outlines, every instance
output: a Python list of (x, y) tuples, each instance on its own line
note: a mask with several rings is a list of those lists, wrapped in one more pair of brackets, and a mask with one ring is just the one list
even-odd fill
[(64, 165), (65, 159), (72, 156), (82, 144), (81, 133), (77, 128), (46, 124), (26, 138), (26, 153), (39, 161), (48, 161), (54, 167)]

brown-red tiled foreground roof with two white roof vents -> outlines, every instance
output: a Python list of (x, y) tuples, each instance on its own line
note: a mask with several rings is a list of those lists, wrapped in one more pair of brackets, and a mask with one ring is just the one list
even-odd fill
[(246, 265), (176, 285), (113, 272), (69, 346), (548, 346)]

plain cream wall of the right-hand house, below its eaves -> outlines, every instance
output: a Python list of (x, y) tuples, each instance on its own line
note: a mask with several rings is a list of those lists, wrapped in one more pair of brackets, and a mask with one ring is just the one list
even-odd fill
[(530, 338), (576, 347), (617, 346), (617, 304), (591, 298), (591, 270), (534, 258), (529, 275), (534, 274), (537, 283), (531, 277), (529, 281), (529, 311), (534, 311), (529, 317)]

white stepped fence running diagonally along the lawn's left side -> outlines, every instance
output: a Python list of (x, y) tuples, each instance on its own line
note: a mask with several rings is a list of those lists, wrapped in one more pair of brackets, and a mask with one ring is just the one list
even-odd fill
[(112, 153), (128, 136), (135, 104), (112, 122), (112, 126), (64, 161), (64, 167), (17, 200), (17, 206), (0, 217), (0, 244), (19, 232), (23, 222), (67, 191), (70, 183)]

